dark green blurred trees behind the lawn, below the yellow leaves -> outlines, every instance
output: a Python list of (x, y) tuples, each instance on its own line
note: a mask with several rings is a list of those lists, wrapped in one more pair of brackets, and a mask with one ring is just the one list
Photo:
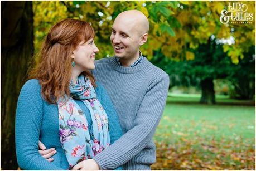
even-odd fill
[(170, 87), (186, 86), (199, 87), (201, 103), (215, 104), (214, 80), (230, 81), (229, 95), (235, 99), (249, 100), (255, 94), (255, 46), (244, 53), (244, 59), (239, 63), (231, 62), (223, 43), (214, 36), (209, 37), (207, 44), (201, 44), (195, 50), (191, 49), (195, 58), (185, 58), (174, 61), (166, 58), (160, 51), (154, 53), (151, 60), (154, 65), (161, 67), (170, 76)]

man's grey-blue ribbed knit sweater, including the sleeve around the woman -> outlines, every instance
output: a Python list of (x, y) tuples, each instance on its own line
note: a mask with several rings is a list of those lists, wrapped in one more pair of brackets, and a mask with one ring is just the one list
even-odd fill
[(119, 66), (114, 57), (95, 62), (93, 71), (112, 100), (124, 135), (94, 158), (101, 170), (150, 170), (156, 162), (152, 137), (165, 108), (169, 77), (147, 58), (134, 67)]

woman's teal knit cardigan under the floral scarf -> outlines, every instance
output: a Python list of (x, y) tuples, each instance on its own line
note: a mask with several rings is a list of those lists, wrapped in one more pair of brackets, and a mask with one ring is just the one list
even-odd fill
[[(110, 128), (110, 145), (122, 136), (117, 113), (104, 87), (96, 82), (96, 94), (105, 109)], [(79, 100), (75, 100), (84, 111), (91, 128), (89, 110)], [(41, 95), (41, 85), (38, 80), (28, 80), (23, 85), (18, 98), (15, 123), (16, 154), (18, 165), (25, 170), (66, 170), (69, 168), (64, 150), (59, 139), (59, 116), (56, 104), (49, 104)], [(46, 148), (55, 148), (57, 153), (54, 161), (48, 162), (38, 153), (38, 140)], [(122, 170), (122, 167), (117, 168)]]

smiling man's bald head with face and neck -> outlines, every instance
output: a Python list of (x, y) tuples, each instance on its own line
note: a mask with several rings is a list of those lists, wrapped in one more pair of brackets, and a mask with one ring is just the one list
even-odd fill
[(115, 18), (110, 41), (123, 66), (132, 65), (139, 58), (139, 47), (147, 42), (148, 30), (148, 19), (140, 11), (124, 11)]

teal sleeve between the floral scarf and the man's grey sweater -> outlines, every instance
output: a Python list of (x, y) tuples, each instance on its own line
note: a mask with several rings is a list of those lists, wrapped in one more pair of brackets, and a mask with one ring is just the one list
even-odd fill
[[(119, 123), (117, 112), (114, 109), (112, 101), (110, 100), (105, 88), (97, 82), (99, 89), (99, 96), (101, 104), (108, 115), (109, 132), (110, 132), (110, 146), (122, 136), (122, 128)], [(108, 147), (109, 148), (109, 147)], [(107, 149), (108, 149), (107, 148)], [(99, 155), (99, 154), (98, 154)], [(123, 167), (119, 166), (114, 170), (122, 170)]]

